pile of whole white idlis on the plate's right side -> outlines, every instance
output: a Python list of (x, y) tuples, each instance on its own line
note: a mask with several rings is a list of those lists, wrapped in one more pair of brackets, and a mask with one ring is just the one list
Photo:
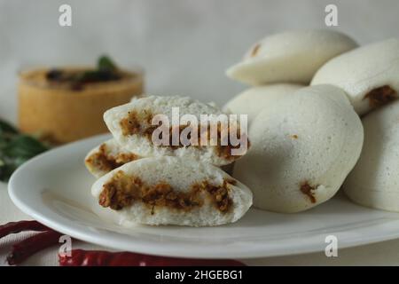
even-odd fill
[(248, 114), (251, 148), (232, 176), (254, 207), (299, 212), (343, 185), (356, 203), (399, 211), (398, 39), (358, 47), (334, 31), (284, 32), (227, 75), (251, 85), (223, 109)]

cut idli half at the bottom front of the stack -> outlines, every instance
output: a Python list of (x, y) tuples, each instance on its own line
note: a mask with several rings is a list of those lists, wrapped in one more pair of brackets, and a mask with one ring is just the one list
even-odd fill
[(118, 223), (223, 225), (252, 205), (252, 193), (219, 168), (178, 157), (144, 158), (100, 177), (91, 193)]

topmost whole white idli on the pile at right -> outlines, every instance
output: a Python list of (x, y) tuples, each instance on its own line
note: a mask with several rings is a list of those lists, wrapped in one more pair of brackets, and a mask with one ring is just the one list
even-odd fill
[(353, 39), (336, 31), (286, 31), (255, 43), (226, 75), (249, 85), (308, 84), (325, 62), (356, 46)]

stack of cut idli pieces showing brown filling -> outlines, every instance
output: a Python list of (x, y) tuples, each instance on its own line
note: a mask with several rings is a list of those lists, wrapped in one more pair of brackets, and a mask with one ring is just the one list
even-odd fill
[[(175, 107), (180, 115), (177, 123), (173, 122)], [(180, 119), (184, 114), (199, 122), (202, 114), (208, 114), (210, 121), (216, 122), (223, 112), (190, 98), (149, 96), (104, 114), (113, 139), (92, 149), (85, 163), (98, 177), (91, 193), (121, 224), (223, 225), (237, 221), (251, 207), (251, 191), (220, 168), (245, 152), (233, 154), (237, 145), (230, 142), (194, 144), (191, 138), (200, 136), (193, 130), (198, 131), (202, 124), (187, 124)], [(162, 123), (157, 121), (162, 117)], [(231, 125), (235, 124), (230, 123), (229, 128)], [(234, 127), (239, 130), (238, 123)], [(185, 133), (190, 143), (173, 143), (175, 130), (178, 138), (192, 130)], [(223, 129), (217, 130), (223, 133)], [(239, 133), (247, 147), (246, 133)], [(158, 144), (154, 137), (170, 143)]]

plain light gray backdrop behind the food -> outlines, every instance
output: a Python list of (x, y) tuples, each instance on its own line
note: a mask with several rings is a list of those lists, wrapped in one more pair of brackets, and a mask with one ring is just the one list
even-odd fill
[[(60, 4), (72, 6), (70, 28), (59, 27)], [(326, 4), (359, 43), (398, 36), (395, 0), (0, 0), (0, 117), (15, 119), (20, 67), (92, 64), (102, 53), (145, 67), (150, 93), (222, 104), (245, 88), (226, 67), (270, 33), (326, 28)]]

